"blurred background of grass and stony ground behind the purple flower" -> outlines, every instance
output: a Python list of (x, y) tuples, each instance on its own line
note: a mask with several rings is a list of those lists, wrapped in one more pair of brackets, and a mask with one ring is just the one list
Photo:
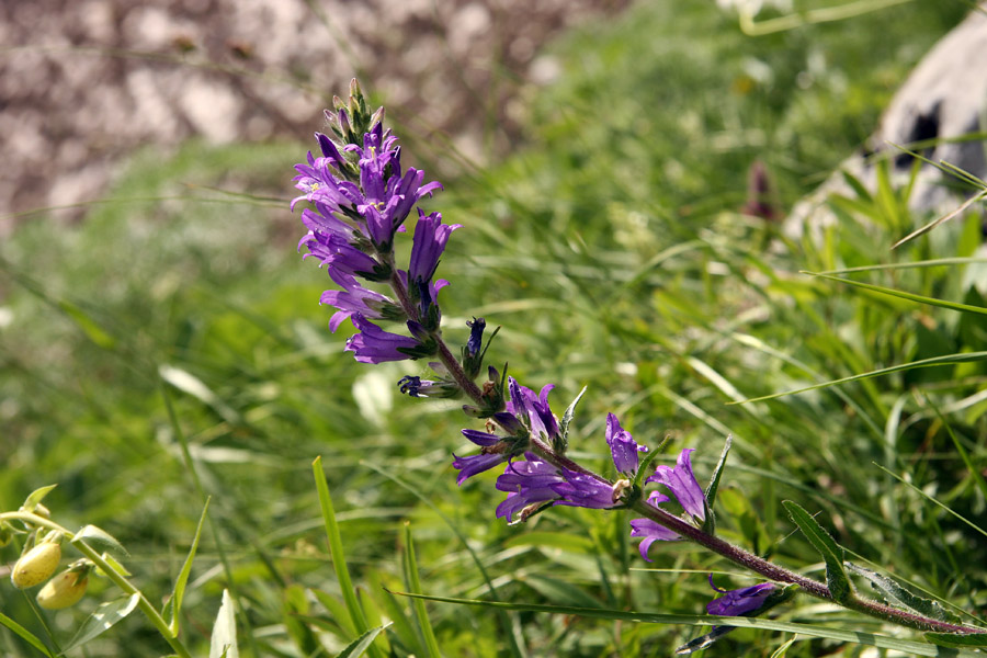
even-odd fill
[[(839, 20), (807, 18), (827, 7), (0, 3), (0, 508), (57, 483), (53, 517), (121, 540), (161, 602), (202, 511), (197, 477), (216, 531), (200, 548), (183, 633), (203, 654), (224, 588), (243, 611), (245, 654), (336, 655), (353, 639), (333, 608), (317, 455), (354, 577), (381, 616), (411, 619), (382, 588), (406, 589), (406, 521), (422, 588), (436, 595), (492, 589), (508, 601), (700, 614), (706, 572), (721, 587), (751, 583), (688, 546), (656, 546), (655, 563), (642, 561), (624, 512), (560, 509), (506, 527), (492, 474), (455, 485), (451, 453), (470, 450), (460, 430), (477, 426), (456, 402), (398, 395), (396, 382), (426, 375), (424, 364), (365, 366), (342, 352), (350, 329), (327, 328), (318, 297), (330, 282), (300, 262), (288, 202), (322, 109), (359, 76), (386, 105), (405, 164), (443, 182), (428, 208), (464, 225), (439, 272), (452, 282), (446, 338), (462, 344), (474, 316), (502, 326), (489, 362), (509, 362), (535, 389), (556, 383), (557, 412), (588, 385), (575, 456), (605, 472), (614, 411), (640, 442), (670, 436), (667, 463), (697, 447), (702, 481), (731, 433), (723, 536), (821, 577), (779, 511), (794, 499), (851, 559), (983, 611), (982, 537), (929, 498), (983, 524), (987, 368), (954, 358), (987, 350), (987, 326), (801, 273), (973, 256), (979, 215), (890, 253), (932, 216), (909, 206), (907, 184), (851, 184), (821, 202), (833, 217), (821, 235), (780, 229), (864, 151), (908, 72), (971, 5), (864, 1)], [(984, 306), (982, 274), (964, 263), (859, 276)], [(930, 358), (943, 361), (729, 404)], [(18, 551), (0, 549), (0, 564)], [(0, 587), (0, 610), (64, 646), (113, 595), (94, 582), (47, 631), (11, 587)], [(667, 656), (700, 633), (428, 610), (447, 656)], [(887, 631), (807, 602), (779, 615)], [(388, 633), (389, 650), (424, 655), (408, 627)], [(787, 639), (738, 631), (711, 655), (771, 656)], [(859, 649), (807, 637), (787, 655)], [(167, 650), (134, 617), (84, 655)], [(35, 655), (5, 628), (0, 653)]]

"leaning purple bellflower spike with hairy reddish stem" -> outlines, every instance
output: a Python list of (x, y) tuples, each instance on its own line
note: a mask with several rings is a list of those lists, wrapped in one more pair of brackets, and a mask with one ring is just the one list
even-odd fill
[[(464, 398), (466, 416), (485, 420), (481, 430), (463, 430), (478, 453), (453, 455), (453, 466), (460, 485), (502, 467), (495, 488), (506, 498), (494, 510), (496, 518), (510, 524), (522, 523), (555, 506), (627, 509), (634, 517), (627, 532), (640, 538), (644, 559), (649, 560), (648, 549), (656, 541), (688, 541), (764, 580), (724, 590), (713, 585), (711, 576), (710, 583), (718, 595), (707, 605), (710, 614), (755, 616), (798, 591), (922, 631), (961, 635), (987, 631), (859, 595), (846, 575), (842, 548), (795, 503), (786, 501), (785, 507), (822, 556), (827, 566), (825, 582), (721, 538), (715, 532), (713, 507), (729, 441), (705, 488), (692, 467), (696, 449), (680, 451), (674, 466), (658, 465), (651, 473), (658, 453), (648, 452), (635, 441), (613, 413), (606, 418), (603, 439), (611, 449), (617, 479), (611, 480), (570, 458), (568, 419), (560, 423), (549, 405), (552, 384), (535, 393), (506, 376), (506, 367), (494, 366), (487, 367), (486, 381), (476, 382), (489, 348), (489, 340), (483, 344), (484, 319), (469, 324), (470, 336), (460, 351), (461, 359), (445, 342), (438, 293), (450, 282), (435, 279), (435, 273), (451, 235), (461, 226), (444, 224), (439, 213), (427, 214), (417, 207), (441, 185), (426, 183), (420, 170), (402, 169), (397, 138), (383, 125), (383, 109), (373, 114), (367, 111), (355, 80), (349, 100), (337, 98), (334, 111), (327, 111), (326, 116), (331, 135), (317, 133), (318, 151), (309, 152), (306, 161), (296, 167), (296, 186), (303, 195), (293, 206), (300, 201), (310, 206), (302, 213), (307, 232), (299, 248), (307, 248), (305, 256), (316, 258), (342, 288), (327, 291), (320, 299), (337, 309), (330, 328), (336, 330), (344, 319), (351, 321), (356, 333), (347, 342), (347, 350), (364, 363), (434, 360), (430, 366), (436, 373), (435, 379), (407, 376), (398, 386), (416, 398)], [(417, 213), (412, 213), (416, 208)], [(398, 262), (395, 245), (411, 232), (405, 224), (416, 214), (410, 260)], [(643, 461), (642, 454), (646, 455)]]

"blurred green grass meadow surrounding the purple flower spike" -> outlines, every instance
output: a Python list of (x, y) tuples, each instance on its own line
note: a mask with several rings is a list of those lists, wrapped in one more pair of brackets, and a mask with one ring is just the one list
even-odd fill
[[(849, 559), (982, 610), (987, 544), (924, 496), (984, 525), (984, 362), (729, 404), (987, 350), (980, 316), (799, 273), (971, 256), (976, 222), (954, 220), (890, 254), (904, 232), (873, 220), (885, 216), (880, 198), (835, 202), (841, 222), (819, 246), (769, 249), (775, 227), (738, 213), (755, 159), (783, 207), (810, 191), (965, 9), (911, 2), (750, 38), (712, 2), (654, 2), (567, 35), (549, 47), (564, 75), (531, 91), (517, 152), (464, 170), (431, 202), (464, 225), (440, 271), (453, 282), (441, 297), (446, 336), (458, 344), (473, 316), (502, 325), (490, 362), (509, 361), (531, 387), (557, 383), (556, 410), (589, 385), (571, 438), (581, 458), (603, 464), (608, 410), (638, 441), (672, 436), (670, 454), (696, 446), (701, 479), (731, 432), (717, 510), (725, 537), (792, 567), (817, 565), (781, 506), (792, 499), (820, 512)], [(396, 131), (407, 163), (443, 157), (400, 123)], [(300, 223), (286, 209), (291, 167), (307, 148), (188, 144), (163, 161), (137, 155), (84, 223), (41, 216), (4, 243), (0, 291), (13, 319), (0, 344), (0, 507), (58, 483), (46, 499), (55, 518), (120, 538), (135, 580), (160, 603), (204, 502), (182, 457), (186, 438), (216, 527), (204, 533), (183, 603), (183, 637), (201, 655), (229, 578), (243, 611), (241, 651), (336, 655), (358, 637), (326, 547), (318, 455), (350, 570), (374, 601), (367, 622), (395, 620), (386, 642), (398, 656), (424, 655), (427, 635), (412, 603), (382, 586), (409, 591), (416, 561), (427, 594), (490, 599), (492, 586), (506, 602), (701, 613), (705, 572), (733, 569), (681, 545), (642, 561), (624, 512), (558, 509), (506, 527), (494, 519), (492, 476), (455, 486), (450, 453), (464, 450), (458, 430), (468, 427), (455, 406), (398, 396), (394, 383), (422, 366), (371, 367), (342, 353), (345, 337), (328, 332), (329, 311), (317, 305), (328, 280), (299, 262)], [(908, 230), (929, 219), (908, 217)], [(954, 263), (840, 276), (983, 307), (975, 272)], [(3, 560), (15, 556), (0, 549)], [(821, 577), (818, 567), (812, 575)], [(728, 582), (750, 581), (717, 577)], [(83, 612), (112, 595), (94, 585), (78, 610), (53, 617), (54, 636), (65, 644)], [(797, 599), (780, 619), (887, 631), (810, 603)], [(12, 588), (0, 587), (0, 609), (46, 637)], [(445, 656), (511, 655), (511, 626), (530, 656), (666, 656), (701, 634), (426, 609)], [(787, 656), (839, 647), (802, 637)], [(790, 638), (741, 628), (707, 653), (770, 656)], [(91, 656), (168, 650), (137, 620), (89, 646)], [(34, 655), (5, 629), (0, 647)]]

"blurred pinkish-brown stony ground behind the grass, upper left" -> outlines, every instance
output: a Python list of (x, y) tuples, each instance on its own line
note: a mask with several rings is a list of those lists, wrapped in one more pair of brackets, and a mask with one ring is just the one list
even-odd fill
[(9, 213), (99, 198), (140, 146), (307, 139), (354, 75), (416, 133), (503, 150), (514, 136), (503, 109), (538, 46), (627, 3), (0, 2), (0, 237)]

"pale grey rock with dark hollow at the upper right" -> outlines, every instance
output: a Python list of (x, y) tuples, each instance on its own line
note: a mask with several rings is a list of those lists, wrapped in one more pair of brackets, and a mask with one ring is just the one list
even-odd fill
[[(987, 9), (987, 3), (982, 5)], [(974, 175), (987, 178), (985, 140), (976, 137), (987, 132), (987, 14), (973, 11), (969, 16), (922, 58), (892, 99), (871, 136), (865, 152), (841, 166), (869, 190), (876, 188), (875, 156), (892, 158), (892, 181), (904, 186), (911, 177), (915, 157), (895, 145), (916, 150), (933, 162), (955, 164)], [(964, 136), (973, 136), (962, 140)], [(922, 143), (933, 141), (932, 145)], [(916, 146), (916, 148), (912, 148)], [(816, 192), (799, 202), (784, 222), (784, 232), (798, 239), (806, 230), (818, 235), (836, 217), (826, 205), (830, 194), (853, 192), (837, 172)], [(969, 194), (968, 188), (966, 195)], [(918, 215), (945, 214), (963, 201), (957, 180), (931, 164), (918, 171), (909, 197), (910, 208)]]

